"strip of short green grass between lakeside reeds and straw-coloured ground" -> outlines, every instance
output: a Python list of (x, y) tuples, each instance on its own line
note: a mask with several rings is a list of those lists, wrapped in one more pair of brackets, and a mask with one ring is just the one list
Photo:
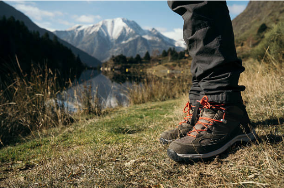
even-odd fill
[[(172, 118), (164, 117), (177, 101), (167, 101), (163, 104), (148, 103), (130, 108), (121, 108), (111, 115), (79, 121), (65, 130), (49, 130), (44, 138), (30, 137), (29, 141), (15, 146), (7, 146), (0, 152), (1, 168), (22, 168), (26, 165), (41, 163), (52, 156), (56, 148), (72, 148), (76, 146), (92, 146), (94, 144), (117, 144), (130, 141), (137, 133), (150, 134), (161, 131), (158, 126), (149, 129), (154, 121), (167, 122)], [(81, 117), (84, 118), (84, 117)], [(88, 116), (92, 118), (92, 116)], [(40, 135), (40, 133), (39, 133)], [(131, 136), (129, 136), (131, 135)], [(139, 140), (136, 140), (139, 141)], [(53, 148), (56, 146), (56, 148)], [(20, 163), (18, 163), (20, 161)], [(7, 167), (5, 163), (13, 165)], [(33, 164), (31, 164), (33, 162)], [(9, 164), (10, 165), (10, 164)], [(0, 175), (0, 177), (3, 175)]]

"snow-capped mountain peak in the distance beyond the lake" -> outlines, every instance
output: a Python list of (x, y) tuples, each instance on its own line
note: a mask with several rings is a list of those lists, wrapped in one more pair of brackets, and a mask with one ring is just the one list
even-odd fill
[(177, 41), (163, 36), (156, 29), (145, 30), (135, 21), (125, 18), (106, 19), (93, 25), (75, 25), (67, 30), (54, 32), (59, 38), (100, 60), (112, 55), (144, 56), (147, 51), (167, 50), (177, 46)]

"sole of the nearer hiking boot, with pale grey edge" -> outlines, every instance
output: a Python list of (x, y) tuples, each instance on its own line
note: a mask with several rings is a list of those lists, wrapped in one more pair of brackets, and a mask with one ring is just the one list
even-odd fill
[(249, 142), (252, 140), (255, 140), (257, 137), (257, 134), (253, 130), (252, 133), (238, 135), (229, 142), (227, 142), (225, 145), (220, 147), (219, 149), (215, 151), (211, 151), (209, 153), (203, 153), (203, 154), (179, 154), (176, 151), (172, 149), (167, 149), (167, 155), (170, 159), (176, 161), (176, 162), (186, 162), (189, 159), (203, 159), (203, 158), (210, 158), (211, 156), (217, 155), (228, 149), (231, 145), (238, 141), (243, 142)]

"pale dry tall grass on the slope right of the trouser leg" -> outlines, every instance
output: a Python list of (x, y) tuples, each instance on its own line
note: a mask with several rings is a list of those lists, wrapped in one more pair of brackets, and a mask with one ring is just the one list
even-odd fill
[(243, 100), (253, 120), (284, 117), (283, 63), (276, 61), (269, 52), (260, 62), (249, 59), (244, 63), (246, 71), (241, 74), (240, 84), (246, 86)]

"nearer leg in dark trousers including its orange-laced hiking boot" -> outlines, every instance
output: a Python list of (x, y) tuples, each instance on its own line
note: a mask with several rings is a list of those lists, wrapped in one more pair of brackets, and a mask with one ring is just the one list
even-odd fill
[[(183, 34), (193, 58), (194, 85), (198, 83), (202, 89), (200, 117), (187, 136), (169, 145), (169, 158), (208, 158), (237, 141), (254, 139), (240, 93), (245, 87), (238, 85), (244, 68), (237, 58), (226, 3), (169, 1), (168, 5), (184, 19)], [(198, 87), (192, 87), (190, 93), (196, 94), (196, 90)]]

